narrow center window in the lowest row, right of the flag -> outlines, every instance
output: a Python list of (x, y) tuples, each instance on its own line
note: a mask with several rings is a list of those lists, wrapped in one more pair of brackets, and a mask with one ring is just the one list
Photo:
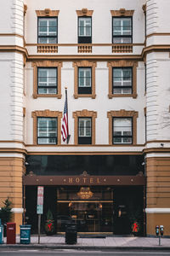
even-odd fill
[(92, 119), (78, 119), (78, 144), (92, 144)]

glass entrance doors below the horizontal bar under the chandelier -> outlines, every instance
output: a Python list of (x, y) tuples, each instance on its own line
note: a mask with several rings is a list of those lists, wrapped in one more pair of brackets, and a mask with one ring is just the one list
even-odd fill
[(64, 232), (68, 222), (77, 224), (78, 232), (112, 232), (112, 201), (60, 201), (58, 209), (58, 232)]

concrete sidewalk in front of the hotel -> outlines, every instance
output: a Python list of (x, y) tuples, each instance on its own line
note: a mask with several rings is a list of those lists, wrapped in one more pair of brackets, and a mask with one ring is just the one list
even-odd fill
[(158, 238), (150, 237), (116, 237), (106, 236), (105, 238), (80, 238), (77, 237), (77, 244), (65, 244), (65, 236), (41, 236), (40, 244), (38, 237), (31, 236), (31, 244), (20, 244), (20, 236), (16, 237), (15, 245), (7, 245), (6, 238), (3, 239), (3, 245), (0, 244), (0, 249), (5, 247), (26, 247), (26, 248), (73, 248), (82, 250), (111, 250), (111, 249), (166, 249), (170, 251), (170, 238), (161, 238), (161, 246), (159, 246)]

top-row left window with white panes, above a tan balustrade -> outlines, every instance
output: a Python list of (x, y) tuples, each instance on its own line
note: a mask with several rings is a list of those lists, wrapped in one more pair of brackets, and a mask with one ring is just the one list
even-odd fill
[(38, 44), (57, 44), (57, 17), (38, 17)]

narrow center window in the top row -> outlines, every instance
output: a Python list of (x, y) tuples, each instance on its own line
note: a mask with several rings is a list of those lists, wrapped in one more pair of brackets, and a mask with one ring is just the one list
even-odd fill
[(92, 17), (78, 17), (78, 44), (92, 43)]

